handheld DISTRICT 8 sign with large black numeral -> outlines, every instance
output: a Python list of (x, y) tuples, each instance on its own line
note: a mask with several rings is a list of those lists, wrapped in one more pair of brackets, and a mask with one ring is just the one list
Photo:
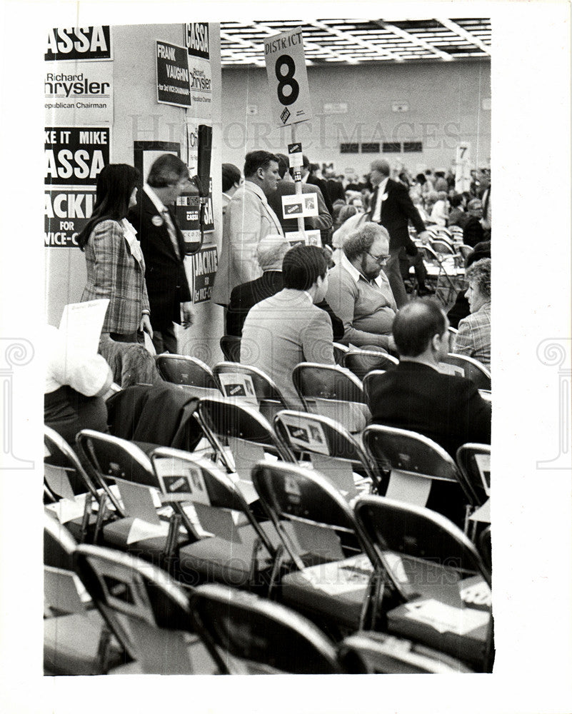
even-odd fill
[(283, 32), (264, 42), (271, 110), (278, 126), (312, 118), (302, 29)]

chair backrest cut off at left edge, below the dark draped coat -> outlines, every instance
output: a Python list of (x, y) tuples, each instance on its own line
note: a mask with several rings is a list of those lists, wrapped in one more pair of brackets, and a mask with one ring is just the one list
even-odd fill
[(44, 426), (44, 483), (57, 498), (90, 493), (97, 498), (94, 481), (69, 443), (49, 426)]

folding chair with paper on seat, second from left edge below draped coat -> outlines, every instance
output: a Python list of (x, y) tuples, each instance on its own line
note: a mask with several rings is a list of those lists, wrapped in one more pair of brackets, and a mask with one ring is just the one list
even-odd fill
[[(91, 429), (80, 431), (77, 441), (94, 479), (119, 516), (102, 529), (104, 543), (122, 550), (136, 549), (142, 556), (168, 565), (179, 543), (181, 518), (174, 514), (161, 520), (159, 482), (149, 456), (131, 441)], [(167, 518), (170, 510), (163, 508), (162, 515)]]

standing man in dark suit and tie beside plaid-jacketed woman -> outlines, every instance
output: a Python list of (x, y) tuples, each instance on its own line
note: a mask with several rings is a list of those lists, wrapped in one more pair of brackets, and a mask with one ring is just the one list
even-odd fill
[(181, 159), (173, 154), (159, 156), (128, 216), (145, 258), (145, 281), (157, 354), (176, 354), (174, 323), (187, 328), (194, 317), (183, 262), (184, 238), (171, 208), (189, 184), (189, 169)]

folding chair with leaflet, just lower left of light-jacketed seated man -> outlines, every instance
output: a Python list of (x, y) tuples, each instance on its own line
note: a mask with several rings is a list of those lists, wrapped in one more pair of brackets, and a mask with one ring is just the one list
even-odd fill
[(281, 409), (288, 408), (279, 388), (261, 369), (236, 362), (219, 362), (213, 372), (224, 396), (258, 406), (269, 421)]

